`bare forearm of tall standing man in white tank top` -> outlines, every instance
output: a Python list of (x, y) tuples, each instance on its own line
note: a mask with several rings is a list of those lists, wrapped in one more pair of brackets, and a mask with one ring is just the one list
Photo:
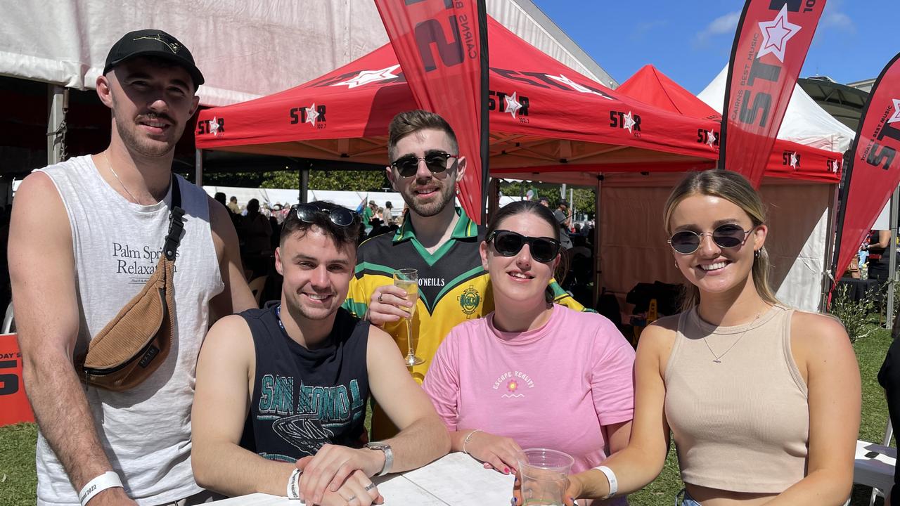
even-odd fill
[(97, 438), (84, 387), (69, 358), (51, 352), (40, 360), (26, 357), (23, 379), (40, 433), (66, 469), (76, 492), (100, 474), (112, 471)]

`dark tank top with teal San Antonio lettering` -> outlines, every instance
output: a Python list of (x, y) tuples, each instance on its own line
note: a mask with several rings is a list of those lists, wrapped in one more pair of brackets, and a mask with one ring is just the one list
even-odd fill
[(329, 443), (362, 447), (369, 380), (369, 322), (341, 308), (329, 343), (307, 349), (284, 331), (280, 304), (240, 313), (257, 351), (253, 397), (240, 446), (293, 463)]

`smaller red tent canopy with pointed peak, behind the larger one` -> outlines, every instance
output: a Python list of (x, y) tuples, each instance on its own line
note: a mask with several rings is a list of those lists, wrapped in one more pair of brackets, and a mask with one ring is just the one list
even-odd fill
[[(691, 118), (722, 122), (722, 114), (679, 86), (653, 65), (645, 65), (634, 76), (622, 83), (617, 92), (652, 104), (662, 110), (679, 113)], [(707, 140), (716, 137), (713, 144), (718, 150), (718, 126)], [(776, 140), (769, 157), (766, 176), (788, 177), (838, 183), (841, 180), (842, 154), (815, 149), (789, 140)]]

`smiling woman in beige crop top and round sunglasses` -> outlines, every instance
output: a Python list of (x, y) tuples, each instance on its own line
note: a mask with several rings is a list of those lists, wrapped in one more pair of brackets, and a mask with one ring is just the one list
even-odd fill
[(611, 481), (618, 494), (644, 487), (662, 470), (671, 429), (684, 504), (843, 504), (860, 372), (842, 324), (776, 300), (763, 205), (743, 176), (690, 174), (664, 219), (690, 284), (685, 312), (641, 336), (628, 446), (604, 462), (608, 469), (573, 475), (567, 492), (599, 499)]

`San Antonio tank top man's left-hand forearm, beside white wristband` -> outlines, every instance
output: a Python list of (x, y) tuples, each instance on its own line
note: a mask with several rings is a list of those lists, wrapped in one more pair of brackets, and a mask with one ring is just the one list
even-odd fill
[(231, 497), (263, 492), (284, 495), (296, 465), (266, 460), (230, 442), (194, 441), (193, 478), (205, 489)]

